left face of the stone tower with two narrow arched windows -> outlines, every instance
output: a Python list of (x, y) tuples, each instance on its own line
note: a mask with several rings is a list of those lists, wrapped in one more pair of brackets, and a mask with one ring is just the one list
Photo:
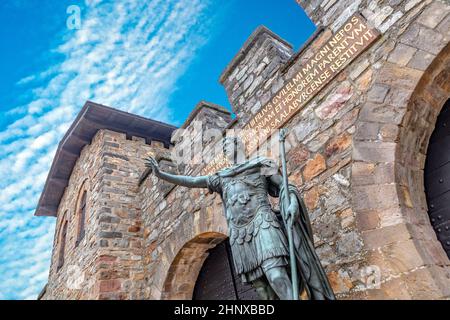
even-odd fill
[[(53, 242), (52, 261), (50, 266), (49, 280), (44, 299), (94, 299), (96, 297), (95, 274), (97, 272), (96, 259), (98, 257), (98, 244), (96, 233), (99, 228), (97, 219), (99, 207), (101, 206), (101, 146), (103, 144), (102, 134), (98, 134), (90, 145), (83, 148), (77, 161), (68, 187), (61, 199)], [(78, 216), (77, 199), (86, 187), (87, 214), (86, 233), (83, 240), (75, 245), (77, 240)], [(60, 251), (60, 236), (64, 222), (67, 221), (67, 238), (64, 254), (64, 265), (58, 270), (58, 259)], [(80, 289), (69, 289), (70, 270), (75, 271), (74, 280), (80, 276), (83, 281)], [(76, 286), (75, 286), (76, 288)]]

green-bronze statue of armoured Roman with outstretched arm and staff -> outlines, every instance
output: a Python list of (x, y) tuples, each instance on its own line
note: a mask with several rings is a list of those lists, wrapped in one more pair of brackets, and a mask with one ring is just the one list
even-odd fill
[[(298, 300), (304, 291), (309, 299), (334, 300), (297, 188), (289, 184), (285, 193), (286, 173), (282, 177), (268, 158), (236, 164), (238, 150), (242, 150), (238, 138), (225, 138), (223, 151), (234, 165), (209, 176), (166, 173), (152, 157), (146, 165), (160, 179), (220, 194), (236, 272), (244, 283), (252, 284), (261, 299)], [(270, 205), (269, 195), (284, 199), (279, 211)]]

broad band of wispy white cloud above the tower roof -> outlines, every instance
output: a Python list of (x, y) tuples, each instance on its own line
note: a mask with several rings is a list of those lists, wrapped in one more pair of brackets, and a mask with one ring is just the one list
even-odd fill
[(166, 106), (208, 39), (209, 6), (86, 0), (82, 29), (66, 30), (51, 48), (58, 63), (17, 83), (34, 87), (26, 103), (9, 111), (15, 122), (0, 132), (0, 299), (34, 299), (47, 280), (54, 219), (33, 212), (55, 146), (84, 102), (173, 121)]

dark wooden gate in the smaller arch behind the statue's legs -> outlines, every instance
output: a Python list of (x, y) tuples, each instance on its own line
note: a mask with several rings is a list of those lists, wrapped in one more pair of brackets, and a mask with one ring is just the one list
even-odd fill
[(231, 260), (228, 240), (209, 250), (200, 270), (193, 294), (194, 300), (257, 300), (250, 285), (243, 285)]

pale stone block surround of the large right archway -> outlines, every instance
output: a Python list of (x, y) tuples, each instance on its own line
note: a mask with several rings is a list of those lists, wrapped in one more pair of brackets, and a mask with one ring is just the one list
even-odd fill
[[(364, 104), (356, 127), (364, 129), (367, 121), (378, 133), (365, 136), (359, 129), (353, 136), (353, 209), (367, 263), (380, 271), (380, 286), (367, 290), (367, 297), (440, 299), (450, 292), (450, 259), (430, 223), (425, 164), (436, 120), (450, 98), (450, 45), (422, 71), (389, 60), (373, 85), (386, 86), (390, 99), (399, 100)], [(385, 128), (392, 134), (385, 136)]]

